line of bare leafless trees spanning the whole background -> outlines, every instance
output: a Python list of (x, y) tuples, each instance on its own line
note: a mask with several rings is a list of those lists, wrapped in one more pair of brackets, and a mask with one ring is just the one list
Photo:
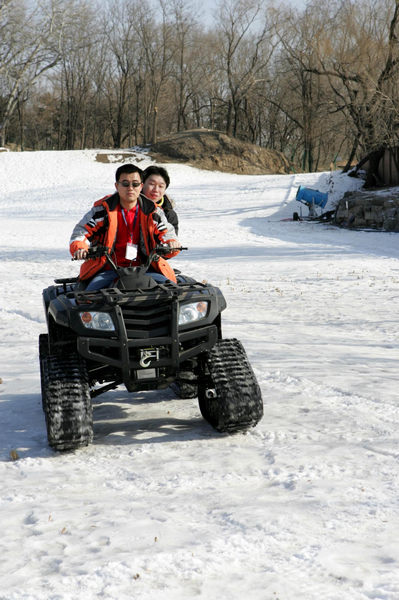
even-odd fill
[(208, 28), (192, 3), (0, 0), (0, 143), (210, 127), (307, 170), (398, 146), (399, 0), (219, 0)]

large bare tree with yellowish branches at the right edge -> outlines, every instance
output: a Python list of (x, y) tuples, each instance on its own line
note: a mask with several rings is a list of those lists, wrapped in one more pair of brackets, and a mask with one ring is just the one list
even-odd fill
[(328, 82), (334, 110), (352, 130), (351, 156), (359, 149), (377, 164), (383, 147), (397, 143), (399, 1), (310, 3), (304, 18), (310, 15), (312, 61), (298, 47), (291, 55), (304, 71)]

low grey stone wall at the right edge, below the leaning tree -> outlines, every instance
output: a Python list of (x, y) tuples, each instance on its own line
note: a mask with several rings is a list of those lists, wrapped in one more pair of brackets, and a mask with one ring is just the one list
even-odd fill
[(337, 205), (335, 222), (341, 227), (399, 232), (399, 190), (347, 192)]

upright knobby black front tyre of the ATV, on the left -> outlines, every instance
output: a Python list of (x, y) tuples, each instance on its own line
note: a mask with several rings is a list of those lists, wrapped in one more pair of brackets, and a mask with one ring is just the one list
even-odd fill
[(85, 361), (79, 354), (41, 360), (47, 438), (54, 450), (74, 450), (93, 440), (93, 411)]

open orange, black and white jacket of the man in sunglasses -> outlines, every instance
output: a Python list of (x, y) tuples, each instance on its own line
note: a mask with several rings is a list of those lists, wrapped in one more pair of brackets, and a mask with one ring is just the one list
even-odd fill
[[(168, 223), (164, 212), (152, 200), (140, 195), (138, 199), (140, 213), (140, 242), (139, 256), (148, 256), (158, 244), (167, 244), (177, 240), (173, 227)], [(75, 225), (70, 239), (70, 252), (72, 256), (76, 250), (87, 250), (90, 245), (102, 244), (112, 250), (118, 232), (119, 194), (104, 196), (94, 203), (92, 209)], [(179, 250), (172, 250), (167, 258), (172, 258)], [(80, 269), (80, 279), (89, 279), (101, 271), (106, 263), (105, 256), (85, 260)], [(176, 275), (172, 267), (164, 258), (151, 263), (151, 266), (176, 282)]]

